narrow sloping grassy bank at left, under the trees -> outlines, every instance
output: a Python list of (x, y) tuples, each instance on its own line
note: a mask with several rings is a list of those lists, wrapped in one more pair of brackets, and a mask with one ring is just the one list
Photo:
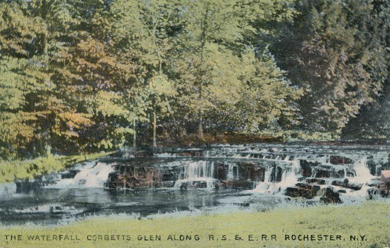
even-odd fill
[(31, 179), (34, 176), (58, 172), (64, 170), (69, 165), (88, 159), (93, 160), (110, 153), (112, 152), (97, 152), (68, 156), (55, 155), (31, 160), (0, 161), (0, 183), (11, 182), (15, 179)]

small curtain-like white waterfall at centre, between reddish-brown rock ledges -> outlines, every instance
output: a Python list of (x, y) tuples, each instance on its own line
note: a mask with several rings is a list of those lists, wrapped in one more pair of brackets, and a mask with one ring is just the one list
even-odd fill
[(195, 161), (184, 166), (184, 178), (175, 182), (174, 188), (215, 188), (214, 162)]

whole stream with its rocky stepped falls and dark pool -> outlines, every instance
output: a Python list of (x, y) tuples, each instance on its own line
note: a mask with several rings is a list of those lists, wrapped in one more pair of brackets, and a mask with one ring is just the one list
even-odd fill
[(76, 164), (0, 187), (2, 224), (387, 198), (387, 146), (218, 145)]

